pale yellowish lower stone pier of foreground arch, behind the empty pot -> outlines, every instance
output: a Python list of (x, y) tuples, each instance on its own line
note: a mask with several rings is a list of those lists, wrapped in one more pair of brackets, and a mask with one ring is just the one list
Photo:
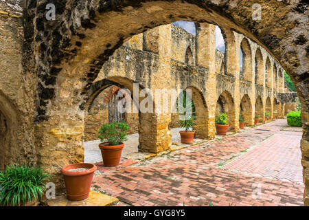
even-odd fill
[(58, 78), (56, 96), (46, 108), (45, 120), (36, 124), (36, 151), (38, 165), (53, 176), (56, 193), (64, 190), (62, 166), (84, 162), (84, 110), (80, 109), (82, 97), (76, 91), (82, 82), (73, 72)]

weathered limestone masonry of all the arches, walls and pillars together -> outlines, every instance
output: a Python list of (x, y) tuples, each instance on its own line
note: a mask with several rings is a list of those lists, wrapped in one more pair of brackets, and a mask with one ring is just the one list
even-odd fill
[[(56, 19), (49, 21), (51, 2)], [(202, 139), (214, 137), (221, 111), (237, 132), (240, 114), (252, 126), (255, 113), (262, 122), (265, 111), (284, 118), (299, 100), (309, 206), (308, 3), (258, 2), (261, 21), (251, 17), (251, 0), (0, 1), (0, 168), (32, 162), (63, 188), (60, 169), (84, 161), (83, 142), (97, 139), (112, 116), (113, 94), (134, 94), (133, 83), (139, 91), (192, 89)], [(196, 36), (171, 24), (179, 20), (194, 21)], [(216, 25), (225, 53), (216, 50)], [(285, 71), (297, 94), (286, 87)], [(139, 151), (169, 151), (174, 113), (120, 116), (139, 133)]]

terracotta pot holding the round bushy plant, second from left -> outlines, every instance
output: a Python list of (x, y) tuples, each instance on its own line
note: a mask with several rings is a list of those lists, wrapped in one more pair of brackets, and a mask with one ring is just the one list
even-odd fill
[(122, 148), (124, 143), (119, 145), (110, 146), (108, 143), (102, 142), (99, 144), (104, 166), (117, 166), (122, 157)]

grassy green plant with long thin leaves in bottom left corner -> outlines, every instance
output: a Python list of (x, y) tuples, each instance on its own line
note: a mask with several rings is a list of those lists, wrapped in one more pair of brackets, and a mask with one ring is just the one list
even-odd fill
[(40, 199), (50, 177), (42, 168), (29, 164), (7, 166), (0, 172), (0, 205), (21, 206)]

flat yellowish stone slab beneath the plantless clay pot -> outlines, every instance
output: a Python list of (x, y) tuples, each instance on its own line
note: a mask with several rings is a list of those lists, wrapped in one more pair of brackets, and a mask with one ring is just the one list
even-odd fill
[(56, 199), (49, 199), (47, 206), (112, 206), (119, 200), (100, 192), (90, 190), (89, 197), (82, 201), (69, 201), (67, 195), (61, 195)]

